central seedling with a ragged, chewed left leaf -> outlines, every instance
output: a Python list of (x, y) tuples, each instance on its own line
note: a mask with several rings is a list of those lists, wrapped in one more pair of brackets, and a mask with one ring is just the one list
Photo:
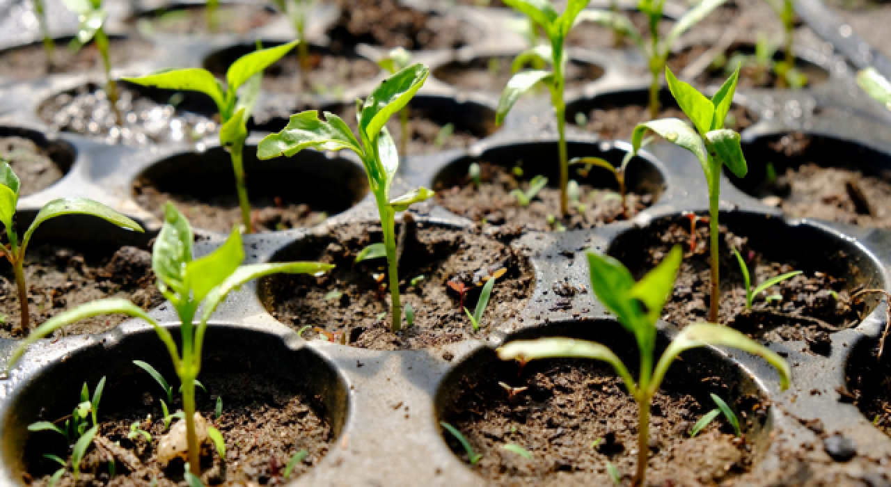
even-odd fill
[[(414, 93), (427, 80), (429, 68), (414, 64), (388, 77), (365, 100), (356, 103), (359, 139), (337, 115), (325, 112), (320, 120), (316, 110), (308, 110), (290, 117), (288, 126), (278, 134), (267, 135), (257, 149), (257, 158), (266, 160), (279, 156), (293, 156), (300, 150), (348, 149), (362, 159), (369, 186), (378, 204), (380, 226), (389, 267), (389, 291), (393, 332), (402, 328), (402, 304), (399, 301), (399, 272), (396, 260), (396, 213), (414, 203), (429, 199), (433, 191), (417, 188), (405, 195), (390, 199), (390, 185), (399, 167), (396, 144), (385, 126), (390, 117), (411, 101)], [(361, 143), (359, 141), (362, 141)]]

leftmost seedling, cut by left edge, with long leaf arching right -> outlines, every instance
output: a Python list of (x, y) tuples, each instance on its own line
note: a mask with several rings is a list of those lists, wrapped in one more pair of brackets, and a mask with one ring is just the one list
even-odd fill
[(143, 231), (139, 223), (121, 215), (110, 207), (97, 203), (92, 199), (61, 198), (53, 199), (40, 208), (37, 217), (21, 239), (15, 227), (15, 208), (19, 203), (19, 177), (12, 172), (12, 167), (0, 160), (0, 223), (6, 229), (7, 243), (0, 243), (0, 252), (6, 260), (12, 264), (12, 273), (15, 276), (15, 284), (19, 291), (20, 323), (22, 330), (30, 328), (31, 317), (28, 307), (28, 281), (25, 279), (25, 252), (31, 241), (31, 236), (37, 227), (45, 221), (61, 215), (93, 215), (121, 228), (133, 231)]

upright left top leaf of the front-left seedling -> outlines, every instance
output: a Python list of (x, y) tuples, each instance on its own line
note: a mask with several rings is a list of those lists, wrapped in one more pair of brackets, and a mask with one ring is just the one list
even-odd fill
[[(185, 216), (168, 202), (165, 209), (164, 225), (151, 250), (151, 269), (159, 282), (173, 289), (176, 299), (188, 299), (185, 288), (185, 264), (192, 262), (192, 226)], [(163, 288), (161, 289), (164, 290)]]

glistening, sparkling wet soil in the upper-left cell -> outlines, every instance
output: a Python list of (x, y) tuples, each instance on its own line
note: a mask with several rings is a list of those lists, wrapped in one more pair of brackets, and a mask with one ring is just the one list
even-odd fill
[(180, 112), (120, 83), (117, 89), (123, 125), (111, 110), (105, 87), (93, 83), (56, 94), (40, 105), (38, 115), (56, 130), (127, 145), (189, 142), (217, 130), (217, 123), (208, 118)]

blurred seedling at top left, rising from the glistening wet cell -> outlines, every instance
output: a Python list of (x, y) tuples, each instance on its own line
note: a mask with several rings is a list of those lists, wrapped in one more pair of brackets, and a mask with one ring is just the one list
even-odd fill
[(96, 49), (102, 56), (102, 68), (105, 69), (105, 93), (109, 97), (109, 106), (114, 113), (115, 120), (121, 125), (120, 110), (118, 110), (118, 85), (111, 78), (111, 61), (109, 57), (109, 37), (105, 34), (105, 20), (108, 12), (102, 8), (102, 0), (62, 0), (62, 3), (71, 12), (78, 14), (80, 25), (78, 35), (71, 40), (69, 48), (78, 51), (81, 47), (95, 40)]

